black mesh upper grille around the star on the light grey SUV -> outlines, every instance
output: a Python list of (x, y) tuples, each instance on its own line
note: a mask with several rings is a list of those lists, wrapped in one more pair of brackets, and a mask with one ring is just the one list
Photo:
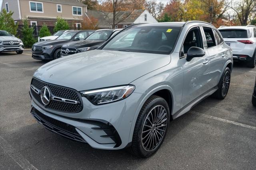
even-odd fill
[(41, 90), (44, 86), (48, 86), (54, 96), (78, 101), (78, 104), (70, 104), (70, 103), (51, 100), (50, 103), (47, 106), (45, 106), (42, 103), (40, 94), (37, 94), (36, 92), (31, 90), (32, 96), (35, 98), (35, 100), (47, 109), (52, 109), (52, 110), (62, 111), (67, 113), (77, 113), (81, 111), (83, 108), (81, 96), (78, 92), (76, 92), (76, 90), (42, 82), (35, 78), (32, 79), (31, 84), (35, 86), (38, 90)]

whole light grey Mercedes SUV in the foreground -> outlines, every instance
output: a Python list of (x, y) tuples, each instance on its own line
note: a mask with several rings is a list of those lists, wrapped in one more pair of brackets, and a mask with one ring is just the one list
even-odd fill
[(130, 25), (96, 50), (41, 66), (31, 113), (44, 127), (97, 149), (141, 157), (162, 145), (170, 120), (207, 96), (224, 99), (232, 50), (202, 21)]

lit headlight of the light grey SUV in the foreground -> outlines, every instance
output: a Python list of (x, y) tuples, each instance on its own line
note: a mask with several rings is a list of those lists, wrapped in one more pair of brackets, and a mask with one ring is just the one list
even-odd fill
[(91, 90), (82, 92), (82, 95), (86, 97), (93, 104), (107, 104), (123, 100), (130, 96), (134, 91), (135, 86), (118, 86), (112, 88), (104, 88), (99, 90)]

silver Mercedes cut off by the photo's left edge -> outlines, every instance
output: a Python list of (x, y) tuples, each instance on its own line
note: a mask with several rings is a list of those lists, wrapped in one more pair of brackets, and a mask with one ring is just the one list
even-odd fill
[(0, 52), (16, 51), (17, 54), (22, 54), (23, 50), (24, 46), (20, 39), (7, 31), (0, 30)]

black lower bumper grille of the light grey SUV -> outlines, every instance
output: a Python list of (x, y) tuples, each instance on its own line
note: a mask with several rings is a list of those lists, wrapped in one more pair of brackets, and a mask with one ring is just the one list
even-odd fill
[(52, 117), (46, 116), (34, 107), (32, 108), (31, 112), (32, 112), (32, 115), (34, 115), (34, 117), (36, 118), (36, 120), (40, 124), (44, 125), (44, 127), (46, 127), (47, 129), (50, 129), (51, 131), (54, 131), (70, 139), (74, 139), (80, 142), (85, 142), (84, 139), (76, 131), (76, 127), (74, 127), (73, 125), (69, 125), (62, 121), (53, 119)]

